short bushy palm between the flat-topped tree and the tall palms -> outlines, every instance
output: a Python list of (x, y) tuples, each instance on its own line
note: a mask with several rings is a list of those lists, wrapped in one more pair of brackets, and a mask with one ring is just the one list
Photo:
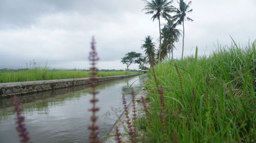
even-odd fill
[(155, 59), (155, 43), (152, 42), (153, 38), (151, 36), (145, 37), (144, 44), (141, 45), (141, 49), (145, 49), (144, 52), (147, 59), (150, 60), (151, 56)]

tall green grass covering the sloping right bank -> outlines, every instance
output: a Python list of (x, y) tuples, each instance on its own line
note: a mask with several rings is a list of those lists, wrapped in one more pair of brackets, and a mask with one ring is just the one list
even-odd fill
[(141, 142), (256, 142), (255, 43), (154, 68), (163, 94), (151, 68)]

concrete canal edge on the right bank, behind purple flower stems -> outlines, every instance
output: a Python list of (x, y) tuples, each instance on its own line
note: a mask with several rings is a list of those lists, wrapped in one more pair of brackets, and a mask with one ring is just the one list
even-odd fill
[[(147, 93), (145, 92), (145, 90), (141, 90), (136, 96), (135, 96), (135, 108), (136, 108), (136, 114), (137, 117), (142, 117), (144, 115), (144, 108), (141, 101), (141, 97), (146, 97)], [(132, 120), (133, 118), (133, 105), (132, 102), (129, 103), (129, 105), (127, 105), (127, 110), (128, 110), (128, 116), (130, 118), (130, 120)], [(117, 119), (116, 123), (112, 126), (112, 128), (110, 129), (110, 131), (108, 132), (108, 135), (115, 135), (116, 134), (116, 128), (118, 128), (119, 133), (121, 134), (127, 134), (127, 124), (126, 124), (126, 115), (124, 113), (124, 111), (122, 112), (122, 114), (120, 115), (120, 117)], [(122, 140), (128, 140), (129, 137), (126, 136), (121, 136)], [(103, 143), (113, 143), (113, 142), (117, 142), (115, 140), (115, 136), (111, 136), (108, 138), (105, 138), (103, 140)]]

